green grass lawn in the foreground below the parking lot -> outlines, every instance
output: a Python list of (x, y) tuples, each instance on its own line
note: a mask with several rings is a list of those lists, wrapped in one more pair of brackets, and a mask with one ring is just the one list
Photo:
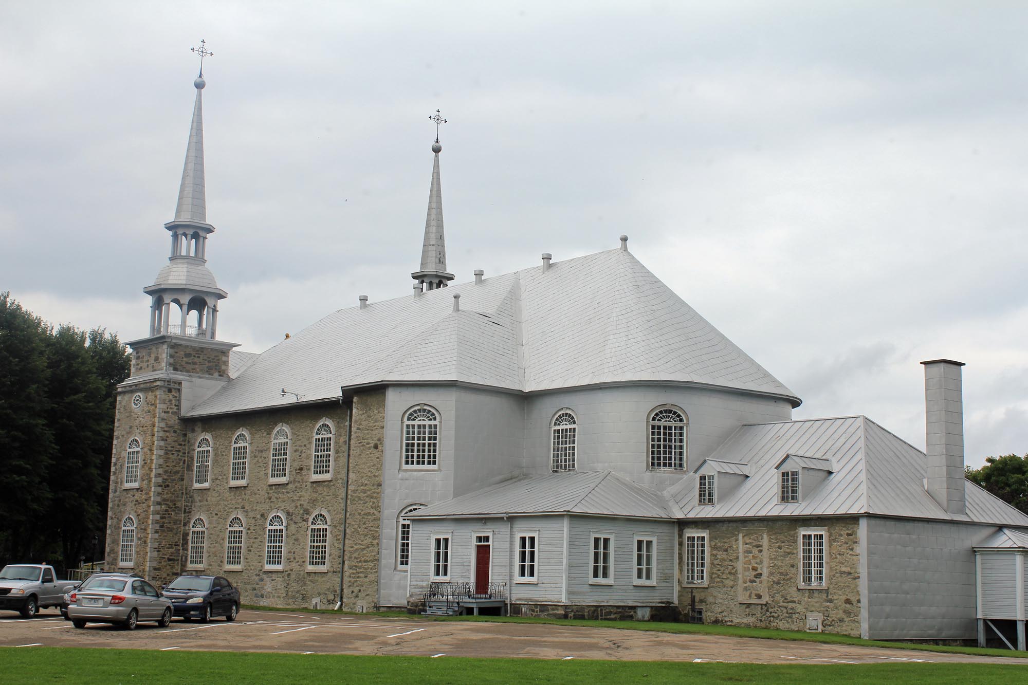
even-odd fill
[(0, 648), (4, 683), (928, 683), (1018, 682), (1021, 665), (872, 663), (799, 665), (471, 659), (253, 652)]

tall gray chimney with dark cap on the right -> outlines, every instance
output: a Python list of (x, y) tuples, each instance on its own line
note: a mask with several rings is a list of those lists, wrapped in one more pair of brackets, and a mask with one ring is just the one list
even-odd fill
[(962, 362), (932, 359), (924, 364), (927, 490), (951, 514), (965, 514)]

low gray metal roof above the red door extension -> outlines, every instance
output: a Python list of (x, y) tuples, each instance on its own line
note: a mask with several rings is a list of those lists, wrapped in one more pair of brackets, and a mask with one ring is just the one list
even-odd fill
[(411, 518), (580, 513), (674, 518), (664, 497), (612, 471), (527, 476), (433, 504)]

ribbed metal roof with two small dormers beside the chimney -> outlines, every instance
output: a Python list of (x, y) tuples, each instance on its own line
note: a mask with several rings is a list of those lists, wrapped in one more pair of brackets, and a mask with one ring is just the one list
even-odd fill
[[(775, 467), (786, 455), (830, 460), (835, 471), (801, 502), (781, 503)], [(742, 426), (711, 459), (746, 463), (749, 477), (717, 504), (700, 505), (697, 476), (685, 476), (666, 491), (684, 517), (871, 513), (1028, 526), (1028, 515), (970, 481), (966, 481), (967, 513), (947, 513), (925, 491), (924, 453), (866, 417)]]

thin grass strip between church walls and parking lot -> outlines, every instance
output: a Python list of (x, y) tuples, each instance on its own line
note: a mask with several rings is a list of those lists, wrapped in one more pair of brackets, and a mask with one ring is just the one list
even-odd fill
[[(284, 611), (302, 613), (324, 613), (341, 614), (352, 612), (333, 611), (331, 609), (308, 610), (308, 609), (280, 609), (271, 607), (256, 607), (246, 605), (247, 609), (258, 609), (261, 611)], [(414, 616), (401, 611), (381, 611), (371, 614), (358, 614), (362, 616), (380, 617), (407, 617)], [(426, 617), (421, 617), (426, 618)], [(880, 642), (878, 640), (860, 640), (851, 638), (848, 635), (838, 635), (835, 633), (804, 633), (802, 630), (774, 630), (771, 628), (742, 627), (738, 625), (709, 625), (696, 623), (670, 623), (660, 621), (605, 621), (605, 620), (583, 620), (574, 618), (526, 618), (521, 616), (433, 616), (431, 620), (438, 621), (486, 621), (492, 623), (545, 623), (551, 625), (583, 625), (586, 627), (609, 627), (623, 630), (654, 630), (656, 633), (682, 633), (699, 635), (724, 635), (733, 638), (761, 638), (764, 640), (791, 640), (799, 642), (819, 642), (835, 645), (861, 645), (865, 647), (887, 647), (890, 649), (919, 649), (928, 652), (943, 652), (950, 654), (977, 654), (980, 656), (1019, 656), (1028, 658), (1028, 652), (1013, 651), (1009, 649), (991, 649), (982, 647), (950, 647), (944, 645), (919, 645), (910, 642)]]

